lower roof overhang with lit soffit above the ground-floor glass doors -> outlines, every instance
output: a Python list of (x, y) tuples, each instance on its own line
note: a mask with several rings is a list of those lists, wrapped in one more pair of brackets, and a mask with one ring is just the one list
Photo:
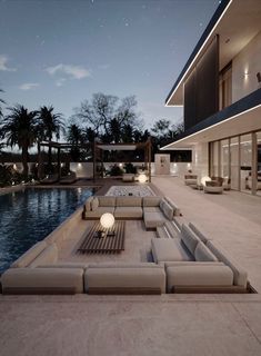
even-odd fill
[(161, 150), (193, 148), (199, 142), (210, 142), (258, 130), (261, 130), (261, 89), (201, 121)]

